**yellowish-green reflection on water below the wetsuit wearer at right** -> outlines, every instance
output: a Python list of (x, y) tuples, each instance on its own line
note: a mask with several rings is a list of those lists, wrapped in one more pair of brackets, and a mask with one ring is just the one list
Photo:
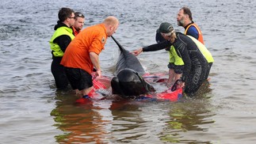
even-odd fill
[(204, 135), (208, 131), (207, 124), (215, 123), (212, 116), (216, 114), (211, 111), (207, 99), (185, 100), (182, 103), (173, 104), (170, 108), (170, 121), (165, 131), (161, 133), (160, 138), (164, 142), (194, 142), (211, 143), (212, 140), (201, 141), (200, 138), (187, 136), (186, 133), (193, 131), (193, 135)]

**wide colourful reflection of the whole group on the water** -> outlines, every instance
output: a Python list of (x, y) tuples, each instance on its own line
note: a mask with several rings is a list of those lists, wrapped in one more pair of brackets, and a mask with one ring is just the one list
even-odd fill
[(91, 100), (77, 105), (71, 91), (57, 92), (55, 99), (51, 116), (63, 131), (55, 135), (59, 143), (195, 142), (198, 138), (185, 137), (186, 133), (200, 134), (208, 131), (204, 125), (214, 123), (212, 105), (204, 97), (179, 102)]

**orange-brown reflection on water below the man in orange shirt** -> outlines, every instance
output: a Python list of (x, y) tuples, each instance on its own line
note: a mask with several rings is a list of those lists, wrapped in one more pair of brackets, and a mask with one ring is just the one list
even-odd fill
[(88, 101), (87, 104), (75, 105), (74, 97), (74, 93), (56, 97), (59, 100), (51, 116), (55, 116), (55, 127), (64, 132), (55, 136), (56, 142), (107, 142), (109, 123), (113, 119), (108, 109), (111, 101)]

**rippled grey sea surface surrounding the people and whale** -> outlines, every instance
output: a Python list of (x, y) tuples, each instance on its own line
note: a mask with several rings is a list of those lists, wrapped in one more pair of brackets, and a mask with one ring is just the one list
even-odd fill
[[(189, 6), (215, 63), (210, 88), (178, 102), (95, 100), (75, 105), (55, 89), (48, 44), (61, 7), (86, 15), (85, 28), (114, 15), (115, 38), (132, 51), (155, 44), (160, 23), (176, 24)], [(0, 143), (254, 143), (256, 141), (256, 1), (1, 1)], [(112, 76), (118, 47), (108, 39), (103, 74)], [(166, 51), (138, 56), (150, 73), (167, 72)], [(159, 85), (161, 89), (161, 85)]]

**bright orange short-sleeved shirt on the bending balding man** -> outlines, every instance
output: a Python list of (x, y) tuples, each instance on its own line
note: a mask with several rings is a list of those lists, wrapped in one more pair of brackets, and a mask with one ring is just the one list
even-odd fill
[(90, 60), (90, 52), (99, 55), (104, 49), (106, 40), (107, 34), (104, 24), (84, 28), (68, 45), (60, 64), (80, 68), (91, 74), (94, 65)]

